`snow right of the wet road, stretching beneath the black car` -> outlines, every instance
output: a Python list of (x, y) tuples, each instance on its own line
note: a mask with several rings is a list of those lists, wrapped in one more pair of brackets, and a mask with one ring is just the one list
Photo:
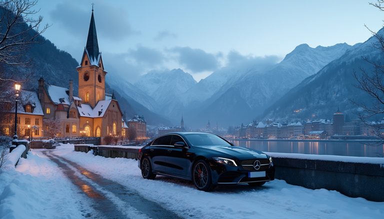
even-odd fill
[(133, 189), (185, 218), (384, 218), (384, 203), (349, 198), (324, 189), (305, 189), (282, 180), (268, 182), (260, 188), (220, 186), (206, 193), (194, 189), (188, 181), (160, 176), (144, 180), (135, 160), (74, 152), (70, 144), (57, 147), (54, 153)]

